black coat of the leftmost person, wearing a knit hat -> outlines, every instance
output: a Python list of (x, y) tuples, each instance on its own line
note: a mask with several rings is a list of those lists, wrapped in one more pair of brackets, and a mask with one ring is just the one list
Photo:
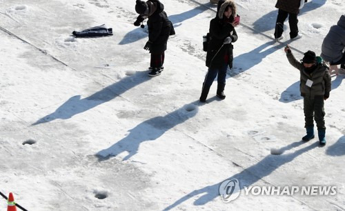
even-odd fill
[(157, 10), (148, 17), (148, 40), (152, 42), (150, 53), (160, 54), (166, 50), (171, 30), (171, 22), (164, 12), (164, 5), (159, 1)]

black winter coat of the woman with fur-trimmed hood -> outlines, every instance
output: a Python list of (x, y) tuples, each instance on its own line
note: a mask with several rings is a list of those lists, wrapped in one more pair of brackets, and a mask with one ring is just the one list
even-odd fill
[(221, 47), (226, 37), (231, 37), (233, 43), (237, 41), (236, 30), (233, 28), (233, 25), (224, 22), (217, 16), (210, 21), (210, 41), (208, 43), (206, 55), (206, 66), (208, 68), (210, 68), (211, 65), (217, 68), (222, 66), (225, 62), (224, 57), (226, 53), (228, 53), (229, 56), (229, 68), (233, 68), (233, 44), (230, 43)]

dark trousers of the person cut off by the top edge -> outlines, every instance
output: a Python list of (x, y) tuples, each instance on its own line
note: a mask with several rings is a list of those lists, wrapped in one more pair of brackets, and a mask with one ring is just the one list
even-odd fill
[(275, 38), (282, 37), (284, 32), (284, 21), (288, 17), (288, 25), (290, 26), (290, 38), (293, 39), (298, 35), (298, 19), (297, 14), (289, 13), (284, 10), (278, 10), (277, 22), (275, 23)]

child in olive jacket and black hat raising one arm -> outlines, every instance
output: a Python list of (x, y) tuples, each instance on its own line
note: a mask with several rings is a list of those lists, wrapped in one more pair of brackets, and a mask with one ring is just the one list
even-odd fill
[(331, 76), (328, 73), (328, 66), (322, 62), (320, 57), (317, 58), (315, 52), (311, 50), (304, 53), (301, 62), (295, 59), (289, 46), (286, 46), (284, 51), (290, 64), (300, 72), (299, 90), (303, 97), (304, 127), (306, 128), (306, 136), (302, 140), (309, 141), (315, 137), (314, 117), (317, 125), (317, 134), (319, 135), (319, 144), (325, 145), (324, 101), (328, 99), (331, 92)]

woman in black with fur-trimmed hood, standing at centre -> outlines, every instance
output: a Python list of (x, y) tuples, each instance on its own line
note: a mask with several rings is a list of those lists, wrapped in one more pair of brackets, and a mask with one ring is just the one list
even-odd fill
[(217, 97), (225, 99), (224, 88), (226, 82), (226, 70), (228, 66), (233, 68), (233, 44), (237, 41), (237, 33), (235, 27), (239, 21), (235, 21), (236, 5), (232, 0), (220, 0), (218, 2), (217, 14), (210, 21), (210, 41), (208, 43), (206, 66), (208, 72), (206, 74), (200, 101), (206, 102), (210, 86), (218, 74)]

